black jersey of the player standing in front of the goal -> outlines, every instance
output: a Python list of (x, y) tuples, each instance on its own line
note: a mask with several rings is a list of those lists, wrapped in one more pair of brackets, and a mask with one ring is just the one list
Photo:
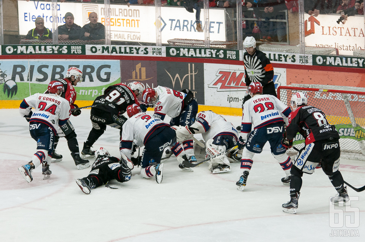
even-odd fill
[(340, 138), (335, 126), (328, 124), (323, 111), (313, 106), (300, 106), (289, 115), (287, 139), (293, 140), (297, 132), (306, 139), (306, 145), (316, 140)]

